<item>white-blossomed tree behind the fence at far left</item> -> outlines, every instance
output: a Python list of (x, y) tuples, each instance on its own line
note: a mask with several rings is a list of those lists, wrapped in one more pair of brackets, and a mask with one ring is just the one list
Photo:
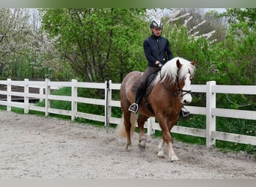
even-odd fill
[(40, 16), (31, 9), (0, 9), (0, 76), (14, 79), (62, 77), (52, 40), (40, 29)]

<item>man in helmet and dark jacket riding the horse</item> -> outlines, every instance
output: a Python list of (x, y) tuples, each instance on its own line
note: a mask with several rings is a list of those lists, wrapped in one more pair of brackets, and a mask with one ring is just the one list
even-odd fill
[[(153, 20), (150, 23), (150, 30), (152, 34), (150, 37), (147, 37), (143, 43), (144, 55), (147, 58), (147, 68), (138, 82), (135, 102), (128, 108), (129, 111), (132, 111), (135, 114), (138, 112), (138, 103), (143, 96), (144, 85), (147, 82), (147, 77), (150, 76), (150, 74), (161, 70), (162, 65), (173, 58), (168, 39), (161, 36), (162, 27), (161, 21)], [(189, 111), (182, 110), (181, 114), (183, 116), (187, 116), (189, 115)]]

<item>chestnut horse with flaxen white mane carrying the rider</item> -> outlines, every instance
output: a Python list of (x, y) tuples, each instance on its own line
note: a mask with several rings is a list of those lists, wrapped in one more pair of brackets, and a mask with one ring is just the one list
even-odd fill
[[(192, 102), (191, 82), (195, 74), (195, 61), (188, 61), (176, 57), (167, 61), (150, 83), (153, 88), (146, 99), (141, 99), (138, 114), (128, 111), (129, 105), (135, 102), (135, 82), (141, 78), (143, 72), (132, 71), (121, 82), (121, 109), (123, 111), (121, 123), (116, 132), (127, 138), (126, 150), (131, 150), (131, 135), (135, 130), (135, 120), (138, 123), (138, 147), (145, 150), (146, 135), (144, 135), (144, 122), (149, 117), (156, 117), (162, 129), (162, 141), (158, 146), (157, 156), (164, 158), (164, 144), (168, 147), (168, 160), (178, 160), (172, 147), (171, 128), (177, 123), (180, 110), (184, 104)], [(150, 108), (147, 103), (150, 103)]]

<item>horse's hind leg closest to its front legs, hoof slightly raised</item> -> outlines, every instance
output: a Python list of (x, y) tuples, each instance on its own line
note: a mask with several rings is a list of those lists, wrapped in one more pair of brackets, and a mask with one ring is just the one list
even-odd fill
[(137, 120), (139, 129), (138, 147), (140, 150), (145, 150), (146, 147), (147, 136), (144, 133), (144, 123), (147, 119), (147, 116), (141, 114)]

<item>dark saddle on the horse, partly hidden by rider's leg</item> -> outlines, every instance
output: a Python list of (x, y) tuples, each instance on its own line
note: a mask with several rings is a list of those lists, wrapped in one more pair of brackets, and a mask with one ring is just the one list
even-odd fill
[[(156, 79), (156, 73), (152, 73), (150, 76), (147, 77), (147, 82), (144, 85), (144, 91), (142, 98), (144, 99), (144, 104), (146, 105), (147, 109), (149, 109), (153, 114), (153, 108), (151, 108), (150, 102), (147, 101), (147, 96), (150, 94), (150, 92), (153, 89), (153, 80)], [(139, 78), (133, 85), (132, 85), (132, 93), (136, 94), (137, 88), (138, 88), (138, 82), (141, 78)]]

